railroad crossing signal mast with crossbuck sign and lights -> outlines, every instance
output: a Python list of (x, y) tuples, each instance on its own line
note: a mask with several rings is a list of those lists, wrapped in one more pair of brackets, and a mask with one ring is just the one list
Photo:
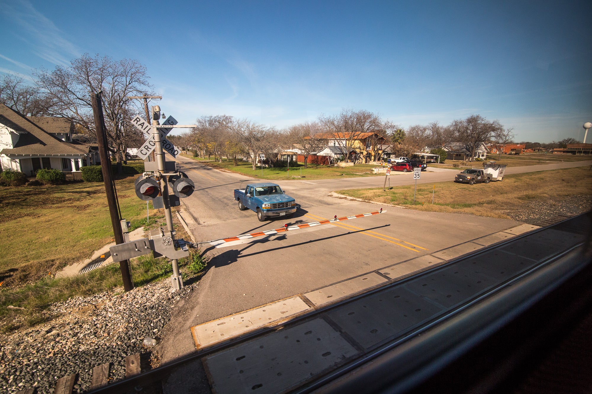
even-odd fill
[[(134, 188), (138, 198), (143, 201), (152, 201), (155, 208), (165, 209), (166, 230), (163, 228), (150, 230), (149, 238), (120, 243), (112, 246), (110, 251), (113, 261), (124, 261), (150, 252), (155, 257), (168, 257), (171, 259), (173, 268), (173, 274), (170, 276), (172, 284), (170, 292), (175, 292), (183, 288), (178, 259), (189, 256), (189, 247), (195, 245), (182, 239), (175, 240), (170, 206), (179, 205), (179, 199), (191, 196), (195, 190), (195, 184), (184, 172), (177, 169), (175, 162), (166, 162), (165, 151), (173, 157), (179, 154), (179, 149), (166, 139), (166, 134), (175, 127), (191, 128), (195, 125), (177, 125), (173, 117), (166, 118), (164, 124), (160, 125), (160, 116), (160, 106), (153, 105), (152, 124), (139, 116), (131, 120), (131, 123), (144, 133), (151, 131), (149, 138), (137, 153), (144, 159), (144, 173), (137, 177)], [(162, 118), (165, 118), (165, 114), (162, 114)], [(152, 151), (155, 152), (155, 162), (147, 161)], [(169, 188), (173, 192), (172, 195), (169, 195)]]

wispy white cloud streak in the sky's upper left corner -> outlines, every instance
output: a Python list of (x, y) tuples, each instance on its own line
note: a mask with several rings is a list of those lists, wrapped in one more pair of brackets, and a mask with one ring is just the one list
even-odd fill
[(72, 57), (80, 56), (78, 48), (63, 37), (64, 33), (27, 0), (5, 3), (0, 8), (10, 20), (20, 26), (18, 32), (12, 33), (28, 35), (28, 40), (25, 41), (33, 43), (33, 53), (41, 59), (65, 66)]

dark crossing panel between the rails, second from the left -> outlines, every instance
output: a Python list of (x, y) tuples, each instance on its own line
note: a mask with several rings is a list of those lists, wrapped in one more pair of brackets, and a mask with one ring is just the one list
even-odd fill
[(340, 306), (327, 312), (327, 316), (369, 350), (413, 330), (442, 311), (441, 306), (398, 286)]

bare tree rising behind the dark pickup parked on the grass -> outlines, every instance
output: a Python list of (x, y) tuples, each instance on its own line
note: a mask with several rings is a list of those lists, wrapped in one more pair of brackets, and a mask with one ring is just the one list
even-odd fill
[(499, 121), (488, 121), (481, 115), (471, 115), (466, 119), (452, 121), (450, 127), (469, 151), (471, 162), (474, 160), (477, 148), (504, 129)]

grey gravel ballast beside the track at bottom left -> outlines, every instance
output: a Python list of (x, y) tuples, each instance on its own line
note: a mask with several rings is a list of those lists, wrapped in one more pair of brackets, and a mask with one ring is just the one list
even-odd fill
[(127, 293), (110, 291), (54, 304), (51, 312), (59, 317), (53, 321), (0, 336), (0, 392), (36, 387), (38, 393), (52, 393), (57, 379), (78, 373), (73, 392), (82, 393), (90, 388), (93, 367), (111, 363), (111, 382), (125, 377), (126, 356), (153, 351), (152, 363), (157, 363), (155, 348), (142, 341), (160, 340), (171, 309), (192, 286), (170, 293), (165, 279)]

